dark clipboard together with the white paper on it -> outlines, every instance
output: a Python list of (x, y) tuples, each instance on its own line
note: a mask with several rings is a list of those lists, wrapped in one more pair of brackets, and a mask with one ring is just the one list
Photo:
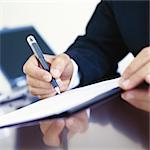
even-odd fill
[[(13, 126), (19, 126), (19, 127), (20, 126), (28, 126), (31, 124), (36, 124), (37, 122), (43, 121), (43, 120), (69, 117), (69, 116), (73, 115), (74, 113), (82, 111), (82, 110), (84, 110), (88, 107), (91, 107), (92, 105), (95, 105), (97, 103), (100, 103), (100, 104), (106, 103), (111, 100), (112, 96), (118, 95), (121, 93), (122, 90), (118, 87), (117, 81), (118, 81), (118, 79), (113, 79), (110, 81), (103, 81), (100, 83), (96, 83), (94, 85), (89, 85), (86, 87), (73, 89), (73, 90), (65, 92), (61, 95), (35, 102), (27, 107), (24, 107), (24, 108), (21, 108), (19, 110), (12, 112), (12, 113), (0, 116), (0, 129), (6, 128), (6, 127), (13, 127)], [(111, 84), (115, 83), (115, 84), (111, 85), (112, 87), (110, 87), (109, 90), (105, 90), (105, 92), (101, 93), (99, 91), (99, 88), (102, 89), (102, 88), (104, 88), (105, 84), (109, 84), (109, 83), (111, 83)], [(90, 92), (93, 90), (93, 93), (94, 92), (95, 93), (94, 94), (92, 93), (93, 96), (91, 96), (91, 94), (89, 94), (89, 97), (87, 97), (87, 99), (84, 100), (84, 96), (88, 95), (86, 92), (87, 89), (90, 89)], [(90, 93), (90, 92), (88, 92), (88, 93)], [(80, 95), (79, 95), (79, 93), (80, 93)], [(68, 102), (68, 100), (63, 99), (63, 98), (66, 98), (68, 95), (74, 96), (73, 97), (74, 101), (76, 100), (76, 96), (79, 95), (78, 97), (81, 97), (81, 102), (80, 102), (80, 100), (78, 100), (79, 102), (73, 101), (73, 104), (72, 104), (72, 102), (70, 102), (70, 104), (67, 104), (66, 102)], [(92, 97), (92, 98), (90, 98), (90, 97)], [(53, 101), (53, 100), (55, 100), (55, 101)], [(49, 110), (47, 110), (47, 108), (49, 108), (49, 107), (51, 108), (52, 105), (50, 105), (50, 104), (53, 104), (53, 103), (54, 103), (54, 105), (59, 105), (59, 103), (60, 103), (59, 100), (61, 100), (61, 102), (63, 101), (62, 103), (65, 103), (64, 106), (62, 106), (65, 108), (62, 108), (60, 105), (60, 106), (58, 106), (58, 108), (56, 107), (56, 110), (60, 109), (60, 112), (59, 111), (57, 112), (54, 109), (54, 110), (51, 110), (51, 114), (50, 114)], [(43, 103), (44, 103), (44, 105), (43, 105)], [(42, 107), (42, 105), (43, 105), (43, 107)], [(42, 112), (45, 114), (43, 116), (38, 116), (40, 113), (38, 114), (38, 112), (35, 111), (36, 108), (37, 108), (37, 111), (43, 110)], [(49, 113), (49, 115), (47, 115), (46, 111)], [(53, 113), (53, 111), (54, 111), (54, 113)], [(34, 114), (31, 114), (31, 113), (34, 113)], [(22, 114), (22, 116), (21, 116), (21, 114)], [(29, 116), (29, 118), (28, 118), (28, 117), (26, 117), (28, 114), (31, 114), (32, 115), (32, 116), (30, 115), (31, 117), (33, 117), (33, 116), (35, 116), (35, 117), (33, 117), (31, 119)], [(20, 116), (18, 116), (18, 115), (20, 115)], [(20, 117), (19, 118), (20, 120), (18, 119), (18, 122), (13, 120), (14, 118), (16, 118), (16, 120), (17, 120), (17, 117)], [(24, 120), (23, 117), (26, 117), (26, 119)]]

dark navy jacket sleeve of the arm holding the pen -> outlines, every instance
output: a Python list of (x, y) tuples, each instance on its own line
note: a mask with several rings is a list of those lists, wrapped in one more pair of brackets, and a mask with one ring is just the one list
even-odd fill
[(127, 51), (108, 2), (102, 1), (97, 6), (86, 34), (79, 36), (66, 53), (79, 66), (81, 86), (116, 72), (118, 61)]

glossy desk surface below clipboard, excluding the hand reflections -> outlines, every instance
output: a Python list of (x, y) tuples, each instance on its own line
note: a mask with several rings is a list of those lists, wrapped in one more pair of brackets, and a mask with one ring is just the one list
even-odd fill
[[(70, 150), (145, 150), (149, 147), (149, 113), (133, 108), (120, 97), (92, 106), (90, 118), (84, 126), (82, 133), (74, 135), (68, 141)], [(46, 137), (47, 144), (49, 136), (51, 135)], [(0, 130), (0, 149), (60, 148), (47, 146), (39, 124), (36, 124)]]

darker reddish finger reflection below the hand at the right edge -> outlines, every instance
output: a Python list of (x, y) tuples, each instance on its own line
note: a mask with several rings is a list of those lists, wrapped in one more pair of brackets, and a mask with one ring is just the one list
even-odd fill
[(150, 112), (150, 93), (148, 90), (125, 92), (122, 98), (138, 109)]

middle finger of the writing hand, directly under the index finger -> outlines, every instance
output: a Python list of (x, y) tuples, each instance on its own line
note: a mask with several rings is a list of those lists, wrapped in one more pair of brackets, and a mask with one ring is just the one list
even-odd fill
[(35, 88), (43, 88), (43, 89), (53, 89), (50, 82), (38, 80), (36, 78), (33, 78), (29, 75), (26, 76), (27, 83), (29, 86), (35, 87)]

